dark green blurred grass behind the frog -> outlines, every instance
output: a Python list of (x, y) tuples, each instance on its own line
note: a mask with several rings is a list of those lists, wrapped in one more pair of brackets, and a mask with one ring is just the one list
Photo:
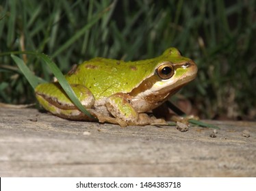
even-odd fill
[[(0, 102), (35, 102), (8, 52), (44, 53), (65, 73), (93, 57), (146, 59), (175, 46), (199, 66), (196, 80), (180, 93), (201, 117), (255, 119), (255, 7), (253, 0), (1, 1)], [(21, 58), (51, 80), (39, 57)]]

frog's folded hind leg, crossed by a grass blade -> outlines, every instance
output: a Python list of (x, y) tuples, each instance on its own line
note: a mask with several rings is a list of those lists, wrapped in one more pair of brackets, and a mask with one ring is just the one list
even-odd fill
[[(94, 96), (84, 85), (71, 84), (71, 87), (85, 108), (94, 105)], [(59, 83), (42, 83), (35, 90), (38, 102), (53, 115), (71, 120), (94, 120), (79, 111)]]

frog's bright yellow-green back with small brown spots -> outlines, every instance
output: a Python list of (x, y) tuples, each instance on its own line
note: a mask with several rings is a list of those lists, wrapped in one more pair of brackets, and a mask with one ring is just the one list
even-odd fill
[(96, 98), (101, 98), (131, 91), (154, 71), (155, 59), (125, 62), (97, 57), (78, 65), (66, 78), (69, 83), (86, 86)]

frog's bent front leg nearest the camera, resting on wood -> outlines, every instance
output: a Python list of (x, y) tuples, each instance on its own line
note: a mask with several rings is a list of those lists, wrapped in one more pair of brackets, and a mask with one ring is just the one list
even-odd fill
[(107, 98), (105, 105), (107, 110), (116, 118), (121, 119), (127, 125), (145, 126), (149, 124), (164, 123), (162, 119), (155, 119), (149, 117), (146, 113), (138, 113), (133, 106), (131, 106), (131, 98), (125, 93), (116, 93)]

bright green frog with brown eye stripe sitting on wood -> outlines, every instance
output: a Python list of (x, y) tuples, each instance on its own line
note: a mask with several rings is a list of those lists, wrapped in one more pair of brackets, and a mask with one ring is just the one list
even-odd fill
[(166, 124), (151, 115), (196, 78), (197, 66), (177, 48), (153, 59), (123, 61), (95, 57), (75, 65), (65, 78), (91, 116), (81, 112), (57, 81), (35, 89), (39, 104), (58, 117), (113, 123), (121, 127)]

